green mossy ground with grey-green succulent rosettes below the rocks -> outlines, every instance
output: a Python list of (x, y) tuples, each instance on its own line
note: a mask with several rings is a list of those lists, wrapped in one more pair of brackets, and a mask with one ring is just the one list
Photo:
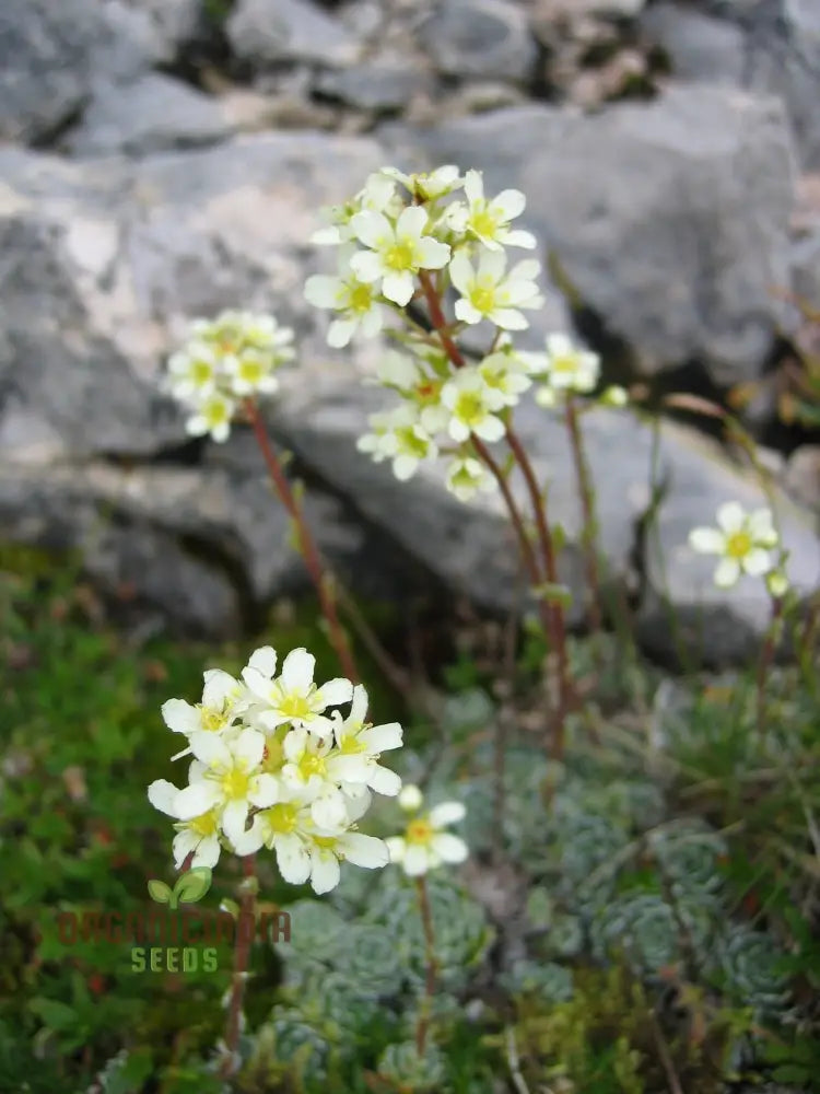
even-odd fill
[[(214, 973), (134, 973), (130, 942), (65, 945), (57, 916), (144, 908), (149, 878), (173, 882), (171, 826), (145, 796), (153, 779), (180, 777), (166, 698), (195, 699), (203, 668), (237, 671), (254, 644), (307, 645), (319, 676), (336, 675), (332, 653), (311, 605), (277, 614), (256, 642), (137, 643), (69, 567), (4, 566), (0, 1091), (219, 1091), (229, 947)], [(265, 899), (300, 903), (292, 942), (256, 947), (235, 1090), (820, 1090), (811, 675), (772, 675), (761, 729), (751, 675), (673, 680), (622, 642), (578, 642), (585, 713), (551, 765), (538, 642), (518, 643), (512, 673), (500, 628), (454, 642), (432, 719), (366, 667), (379, 720), (407, 726), (402, 773), (468, 807), (465, 884), (433, 886), (441, 993), (427, 1057), (412, 1047), (422, 940), (395, 868), (375, 881), (348, 870), (324, 901), (269, 871)], [(391, 803), (374, 810), (372, 830), (398, 824)], [(223, 857), (209, 906), (237, 880)], [(488, 898), (493, 886), (509, 893)]]

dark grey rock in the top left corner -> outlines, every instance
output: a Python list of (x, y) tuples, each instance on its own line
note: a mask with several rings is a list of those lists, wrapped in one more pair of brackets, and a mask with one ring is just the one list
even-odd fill
[(0, 5), (0, 138), (47, 140), (82, 106), (103, 33), (92, 0)]

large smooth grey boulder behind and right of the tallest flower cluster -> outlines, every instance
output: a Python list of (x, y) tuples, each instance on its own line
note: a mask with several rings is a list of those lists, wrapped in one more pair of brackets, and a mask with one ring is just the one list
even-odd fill
[(794, 174), (774, 98), (669, 89), (595, 116), (528, 106), (436, 130), (384, 130), (403, 163), (484, 170), (527, 195), (523, 221), (643, 371), (698, 360), (713, 380), (757, 377), (787, 286)]

